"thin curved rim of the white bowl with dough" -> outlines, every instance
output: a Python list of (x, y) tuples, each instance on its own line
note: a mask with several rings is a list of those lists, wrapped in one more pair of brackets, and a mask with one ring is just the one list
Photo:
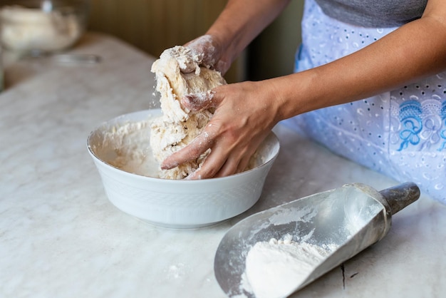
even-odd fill
[[(280, 151), (280, 142), (279, 142), (279, 138), (277, 138), (277, 135), (274, 133), (274, 131), (271, 130), (271, 132), (266, 135), (266, 138), (274, 138), (274, 149), (276, 150), (276, 152), (274, 153), (274, 155), (271, 155), (271, 157), (269, 158), (269, 160), (267, 160), (265, 163), (262, 163), (261, 165), (256, 166), (255, 168), (251, 168), (249, 170), (245, 170), (241, 173), (237, 173), (237, 174), (233, 174), (233, 175), (229, 175), (229, 176), (224, 176), (224, 177), (217, 177), (217, 178), (203, 178), (203, 179), (195, 179), (195, 180), (188, 180), (188, 179), (165, 179), (165, 178), (156, 178), (156, 177), (150, 177), (150, 176), (145, 176), (145, 175), (139, 175), (136, 173), (130, 173), (127, 172), (125, 170), (122, 170), (120, 168), (115, 167), (114, 165), (110, 165), (109, 163), (106, 163), (104, 160), (100, 159), (98, 157), (98, 155), (96, 155), (93, 152), (93, 149), (90, 146), (90, 139), (93, 137), (93, 135), (98, 131), (99, 128), (107, 125), (108, 123), (118, 120), (120, 118), (125, 118), (125, 116), (128, 115), (133, 115), (136, 113), (143, 113), (143, 112), (150, 112), (150, 111), (160, 111), (160, 108), (150, 108), (150, 109), (146, 109), (146, 110), (140, 110), (140, 111), (134, 111), (134, 112), (130, 112), (130, 113), (125, 113), (122, 115), (118, 115), (114, 118), (111, 118), (110, 120), (106, 120), (103, 121), (103, 123), (101, 123), (100, 125), (96, 126), (95, 129), (91, 130), (90, 134), (88, 135), (87, 138), (87, 148), (88, 148), (88, 153), (90, 153), (90, 156), (93, 158), (94, 161), (100, 162), (101, 164), (105, 165), (105, 167), (110, 168), (111, 170), (115, 171), (115, 173), (120, 173), (123, 175), (130, 175), (129, 177), (133, 177), (133, 178), (138, 178), (138, 179), (142, 179), (142, 180), (153, 180), (154, 182), (166, 182), (166, 183), (172, 183), (172, 181), (177, 181), (175, 183), (199, 183), (200, 181), (212, 181), (212, 183), (215, 183), (216, 180), (219, 181), (224, 181), (224, 180), (229, 180), (229, 179), (234, 179), (237, 177), (240, 177), (242, 175), (249, 175), (252, 172), (256, 172), (261, 168), (264, 168), (266, 166), (268, 166), (270, 163), (273, 163), (274, 160), (277, 158), (277, 155), (279, 155), (279, 151)], [(264, 140), (266, 140), (266, 138), (264, 138)]]

